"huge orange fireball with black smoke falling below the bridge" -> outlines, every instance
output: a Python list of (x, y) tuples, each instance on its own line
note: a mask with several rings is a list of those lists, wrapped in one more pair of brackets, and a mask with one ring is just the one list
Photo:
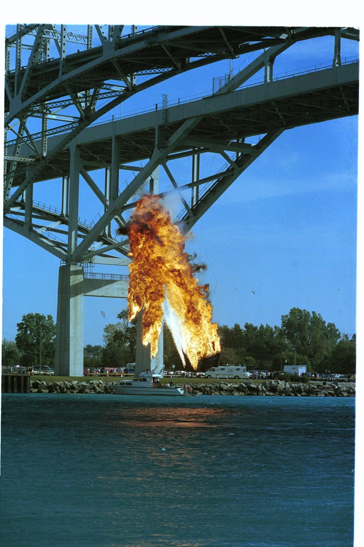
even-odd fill
[(189, 255), (184, 252), (186, 236), (172, 224), (171, 216), (156, 195), (137, 201), (128, 226), (130, 241), (129, 321), (144, 310), (142, 341), (158, 350), (162, 328), (162, 304), (178, 316), (184, 351), (197, 370), (198, 361), (220, 351), (218, 325), (211, 322), (212, 305), (207, 301), (208, 286), (200, 287), (193, 276)]

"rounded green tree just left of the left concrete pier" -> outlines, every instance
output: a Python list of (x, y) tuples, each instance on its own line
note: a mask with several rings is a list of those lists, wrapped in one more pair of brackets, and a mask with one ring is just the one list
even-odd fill
[(20, 364), (54, 366), (56, 325), (53, 317), (41, 313), (27, 313), (16, 326), (16, 346), (23, 353)]

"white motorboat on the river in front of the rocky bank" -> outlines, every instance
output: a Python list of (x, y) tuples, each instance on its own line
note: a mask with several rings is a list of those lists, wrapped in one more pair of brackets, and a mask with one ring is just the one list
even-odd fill
[(158, 371), (143, 370), (139, 378), (110, 382), (109, 386), (114, 388), (116, 395), (162, 395), (163, 397), (185, 395), (181, 387), (158, 386), (158, 379), (163, 377), (163, 368)]

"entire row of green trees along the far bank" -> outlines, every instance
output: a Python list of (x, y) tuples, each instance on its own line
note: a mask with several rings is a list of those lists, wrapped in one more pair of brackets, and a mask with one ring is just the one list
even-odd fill
[[(119, 321), (104, 328), (104, 345), (86, 345), (84, 366), (125, 366), (135, 362), (136, 322), (127, 320), (127, 311)], [(280, 370), (284, 364), (306, 365), (307, 370), (354, 374), (356, 336), (349, 339), (334, 323), (326, 323), (316, 312), (292, 308), (281, 316), (281, 325), (238, 323), (219, 326), (220, 364), (245, 365), (249, 369)], [(3, 340), (2, 364), (54, 366), (56, 325), (51, 315), (27, 313), (17, 323), (14, 341)], [(173, 337), (163, 325), (163, 353), (166, 368), (182, 369)]]

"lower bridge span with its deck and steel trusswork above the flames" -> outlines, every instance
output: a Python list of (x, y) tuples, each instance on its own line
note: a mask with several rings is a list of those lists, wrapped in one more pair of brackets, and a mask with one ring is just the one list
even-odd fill
[[(75, 195), (78, 195), (81, 174), (104, 206), (104, 216), (97, 226), (81, 225), (78, 219), (78, 241), (74, 242), (71, 251), (67, 248), (68, 242), (64, 237), (62, 243), (62, 235), (68, 237), (69, 206), (62, 205), (62, 211), (46, 211), (39, 204), (37, 206), (33, 203), (30, 205), (33, 240), (44, 247), (44, 238), (48, 237), (46, 245), (50, 246), (51, 252), (65, 260), (72, 257), (73, 261), (83, 261), (91, 256), (108, 257), (115, 253), (119, 256), (127, 255), (127, 240), (116, 241), (111, 235), (110, 223), (116, 221), (119, 226), (125, 225), (123, 215), (134, 207), (133, 196), (148, 179), (156, 176), (155, 170), (158, 166), (166, 171), (172, 189), (180, 191), (183, 211), (176, 220), (188, 230), (281, 132), (358, 112), (358, 63), (234, 90), (242, 79), (238, 74), (227, 85), (226, 91), (222, 89), (220, 94), (169, 107), (165, 113), (167, 121), (164, 124), (163, 113), (157, 111), (85, 130), (74, 140), (72, 148), (73, 151), (77, 149), (78, 156), (77, 180), (72, 184), (76, 184)], [(234, 91), (227, 92), (230, 89)], [(158, 142), (158, 132), (161, 129), (164, 141)], [(244, 142), (246, 138), (257, 135), (260, 135), (260, 140), (256, 144)], [(261, 138), (262, 135), (266, 137)], [(57, 141), (59, 138), (52, 139)], [(37, 146), (41, 146), (41, 143)], [(71, 148), (60, 151), (52, 160), (52, 170), (45, 165), (34, 182), (55, 176), (62, 176), (63, 181), (67, 182), (73, 153)], [(219, 154), (225, 160), (225, 165), (208, 177), (202, 176), (198, 169), (198, 173), (192, 174), (191, 182), (187, 184), (185, 181), (184, 184), (176, 181), (173, 176), (173, 160), (190, 156), (194, 162), (201, 154)], [(140, 166), (140, 163), (139, 166), (130, 165), (145, 160), (147, 163), (144, 166)], [(105, 193), (92, 179), (92, 171), (100, 167), (105, 169), (105, 179), (110, 177), (113, 188), (110, 185), (108, 189), (105, 187)], [(119, 174), (123, 169), (133, 170), (138, 174), (120, 195)], [(18, 168), (13, 186), (24, 186), (24, 177), (25, 167)], [(27, 192), (33, 184), (25, 192), (25, 200), (18, 199), (4, 217), (5, 225), (23, 235), (29, 233), (27, 229), (31, 226), (29, 219), (26, 222), (26, 202)], [(186, 192), (191, 193), (190, 198)], [(73, 202), (72, 207), (74, 206)], [(107, 222), (103, 222), (105, 215), (108, 216)], [(78, 207), (73, 211), (73, 216), (78, 218)], [(39, 219), (40, 224), (35, 223), (36, 219)], [(44, 228), (42, 222), (49, 224)], [(95, 244), (96, 250), (90, 253), (89, 248)]]

